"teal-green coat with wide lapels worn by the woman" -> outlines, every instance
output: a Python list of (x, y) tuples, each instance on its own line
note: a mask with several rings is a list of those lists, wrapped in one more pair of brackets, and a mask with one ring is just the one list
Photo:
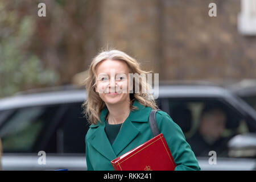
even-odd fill
[[(102, 123), (98, 121), (97, 125), (90, 125), (85, 137), (88, 170), (113, 170), (111, 160), (152, 138), (148, 122), (151, 107), (145, 107), (137, 100), (134, 101), (133, 106), (137, 106), (139, 110), (130, 111), (112, 146), (104, 130), (107, 107), (100, 114)], [(170, 148), (176, 163), (175, 170), (200, 170), (195, 154), (186, 142), (180, 127), (171, 117), (164, 111), (158, 111), (156, 123)]]

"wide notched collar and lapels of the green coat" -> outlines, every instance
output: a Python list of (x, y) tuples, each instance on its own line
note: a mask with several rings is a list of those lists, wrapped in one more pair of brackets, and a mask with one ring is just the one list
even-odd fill
[(94, 133), (89, 138), (90, 143), (109, 160), (117, 158), (118, 154), (140, 133), (137, 127), (133, 125), (133, 122), (148, 122), (151, 107), (143, 106), (137, 100), (133, 102), (133, 106), (137, 106), (138, 110), (130, 111), (112, 146), (104, 130), (104, 117), (108, 112), (107, 107), (101, 111), (100, 119), (102, 122), (98, 121), (97, 125), (90, 126), (91, 130), (94, 130)]

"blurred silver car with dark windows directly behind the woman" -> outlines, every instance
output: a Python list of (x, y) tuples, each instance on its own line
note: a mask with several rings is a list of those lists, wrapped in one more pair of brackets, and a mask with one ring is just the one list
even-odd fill
[[(89, 125), (82, 114), (84, 100), (85, 90), (73, 88), (0, 100), (2, 169), (86, 170), (85, 135)], [(199, 129), (204, 107), (221, 106), (227, 115), (222, 135), (229, 140), (217, 152), (217, 164), (209, 163), (208, 154), (196, 155), (201, 169), (255, 169), (255, 153), (247, 154), (248, 150), (256, 151), (256, 137), (250, 135), (256, 131), (256, 112), (241, 98), (218, 86), (160, 85), (156, 102), (181, 127), (188, 141)], [(251, 143), (241, 146), (244, 139)], [(193, 144), (191, 147), (195, 149)], [(39, 164), (39, 151), (46, 152), (46, 164)]]

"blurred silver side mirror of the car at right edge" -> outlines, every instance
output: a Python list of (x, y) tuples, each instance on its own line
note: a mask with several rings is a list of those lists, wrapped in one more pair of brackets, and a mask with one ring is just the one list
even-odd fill
[(231, 158), (255, 158), (256, 134), (247, 133), (236, 135), (228, 142), (228, 155)]

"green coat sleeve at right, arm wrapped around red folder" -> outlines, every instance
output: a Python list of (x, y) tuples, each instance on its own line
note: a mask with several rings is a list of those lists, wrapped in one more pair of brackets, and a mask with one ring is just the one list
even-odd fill
[(195, 154), (185, 140), (182, 130), (172, 121), (170, 115), (164, 111), (158, 111), (156, 113), (156, 122), (174, 158), (175, 171), (201, 170)]

